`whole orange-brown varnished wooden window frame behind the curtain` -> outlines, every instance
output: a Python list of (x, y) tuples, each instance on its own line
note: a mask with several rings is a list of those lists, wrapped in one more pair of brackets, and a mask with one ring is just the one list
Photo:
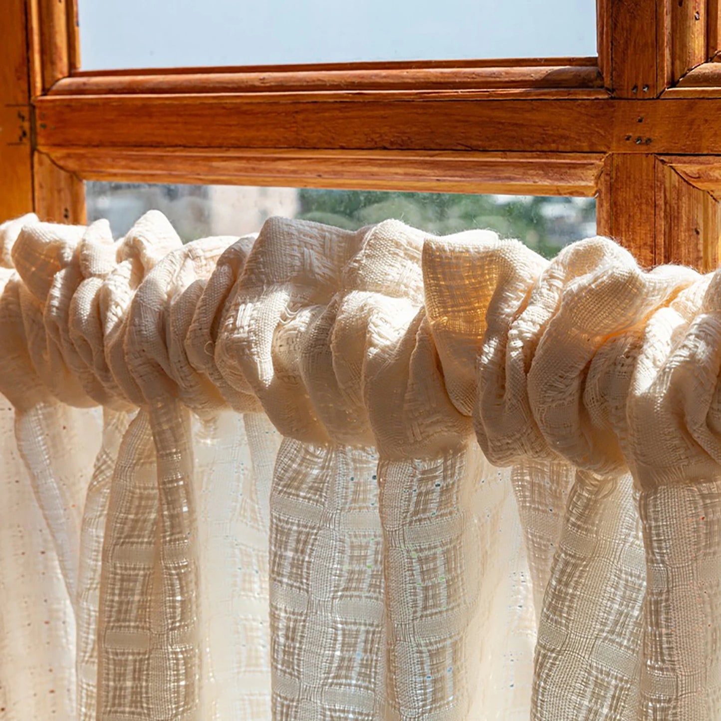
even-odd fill
[(642, 265), (721, 259), (721, 0), (598, 0), (598, 58), (79, 70), (76, 0), (4, 0), (0, 218), (84, 180), (596, 195)]

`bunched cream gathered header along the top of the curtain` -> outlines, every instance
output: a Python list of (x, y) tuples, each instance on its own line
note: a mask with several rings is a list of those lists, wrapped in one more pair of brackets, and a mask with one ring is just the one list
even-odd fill
[[(491, 231), (435, 237), (270, 218), (183, 245), (151, 211), (120, 242), (1, 226), (0, 386), (131, 410), (265, 410), (306, 443), (494, 464), (570, 461), (642, 485), (721, 463), (721, 274), (640, 269), (609, 239), (551, 261)], [(692, 399), (692, 402), (690, 402)]]

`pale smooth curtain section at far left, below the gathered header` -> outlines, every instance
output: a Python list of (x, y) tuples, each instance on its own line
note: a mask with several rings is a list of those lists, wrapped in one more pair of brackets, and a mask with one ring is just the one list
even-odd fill
[(53, 537), (0, 405), (0, 709), (9, 719), (74, 718), (75, 618)]

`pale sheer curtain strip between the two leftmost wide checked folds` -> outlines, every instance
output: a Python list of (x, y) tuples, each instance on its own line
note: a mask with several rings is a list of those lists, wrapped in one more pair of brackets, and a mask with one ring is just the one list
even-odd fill
[(257, 413), (199, 421), (198, 495), (202, 713), (270, 717), (269, 494), (280, 438)]

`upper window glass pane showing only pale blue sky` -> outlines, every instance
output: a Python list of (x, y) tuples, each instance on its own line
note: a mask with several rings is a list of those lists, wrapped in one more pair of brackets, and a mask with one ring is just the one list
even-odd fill
[(595, 0), (79, 0), (85, 70), (596, 55)]

